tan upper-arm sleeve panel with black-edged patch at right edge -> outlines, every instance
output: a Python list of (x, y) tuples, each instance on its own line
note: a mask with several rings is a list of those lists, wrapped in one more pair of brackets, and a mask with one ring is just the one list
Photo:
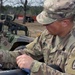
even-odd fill
[(69, 55), (66, 64), (65, 71), (75, 75), (75, 48), (73, 48), (71, 54)]

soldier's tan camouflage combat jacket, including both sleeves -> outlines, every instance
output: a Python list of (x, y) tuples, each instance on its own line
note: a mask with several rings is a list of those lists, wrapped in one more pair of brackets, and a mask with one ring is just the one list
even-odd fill
[[(18, 55), (28, 54), (34, 58), (30, 75), (75, 75), (75, 26), (66, 37), (50, 35), (45, 30), (23, 50), (0, 52), (3, 67), (17, 66)], [(44, 58), (44, 62), (39, 62)], [(49, 65), (58, 65), (60, 72)]]

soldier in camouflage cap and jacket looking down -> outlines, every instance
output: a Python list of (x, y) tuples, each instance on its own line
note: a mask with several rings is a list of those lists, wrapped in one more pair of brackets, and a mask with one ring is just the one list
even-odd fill
[[(18, 65), (29, 69), (30, 75), (75, 75), (74, 15), (75, 0), (45, 0), (37, 21), (46, 30), (23, 50), (0, 52), (2, 66)], [(39, 62), (42, 58), (44, 62)]]

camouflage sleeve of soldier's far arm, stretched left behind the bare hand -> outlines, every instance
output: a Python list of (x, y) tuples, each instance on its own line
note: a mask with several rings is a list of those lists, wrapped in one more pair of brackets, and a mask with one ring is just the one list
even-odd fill
[(12, 68), (16, 67), (16, 57), (22, 54), (28, 54), (36, 60), (40, 60), (43, 58), (41, 52), (41, 43), (40, 37), (37, 37), (33, 42), (28, 44), (25, 49), (23, 50), (14, 50), (14, 51), (0, 51), (0, 63), (2, 64), (3, 68)]

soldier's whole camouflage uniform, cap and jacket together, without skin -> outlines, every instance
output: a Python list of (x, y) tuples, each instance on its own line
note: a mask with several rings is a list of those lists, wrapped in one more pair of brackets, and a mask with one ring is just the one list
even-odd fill
[[(54, 7), (49, 3), (54, 5)], [(73, 15), (74, 11), (71, 12), (73, 10), (72, 9), (70, 10), (70, 13), (68, 13), (65, 12), (65, 10), (68, 9), (68, 7), (75, 8), (75, 5), (72, 5), (74, 3), (74, 0), (45, 0), (46, 5), (44, 4), (44, 11), (37, 16), (37, 20), (39, 23), (47, 24), (59, 20), (57, 16), (59, 16), (60, 19), (67, 18), (68, 16)], [(51, 7), (47, 4), (51, 5)], [(55, 6), (55, 4), (57, 6)], [(64, 7), (62, 8), (62, 6)], [(57, 14), (54, 14), (55, 11), (49, 8), (54, 9)], [(62, 9), (65, 16), (62, 13), (62, 17), (58, 10), (56, 10), (57, 8), (60, 8), (59, 10)], [(51, 13), (55, 16), (52, 17)], [(50, 18), (52, 19), (48, 20)], [(0, 63), (4, 68), (17, 67), (15, 59), (21, 54), (27, 54), (34, 58), (34, 62), (30, 68), (31, 75), (75, 75), (75, 25), (73, 25), (72, 30), (64, 38), (51, 35), (47, 30), (45, 30), (23, 50), (0, 52)], [(37, 61), (41, 58), (44, 58), (44, 63)], [(49, 66), (52, 64), (58, 65), (63, 72)]]

